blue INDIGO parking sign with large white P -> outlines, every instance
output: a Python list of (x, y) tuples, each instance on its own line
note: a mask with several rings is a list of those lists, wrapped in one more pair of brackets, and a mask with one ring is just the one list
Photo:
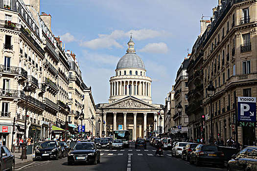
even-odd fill
[(237, 98), (237, 120), (239, 127), (255, 127), (256, 97)]

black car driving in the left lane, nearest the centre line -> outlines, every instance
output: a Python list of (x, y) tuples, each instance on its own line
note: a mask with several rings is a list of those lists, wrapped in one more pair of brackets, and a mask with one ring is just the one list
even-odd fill
[(100, 151), (93, 142), (76, 143), (68, 153), (68, 165), (77, 162), (100, 163)]

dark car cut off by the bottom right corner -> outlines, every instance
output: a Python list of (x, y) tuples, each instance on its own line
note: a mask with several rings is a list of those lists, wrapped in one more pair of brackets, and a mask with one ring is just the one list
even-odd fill
[(257, 171), (257, 147), (249, 146), (234, 154), (227, 171)]

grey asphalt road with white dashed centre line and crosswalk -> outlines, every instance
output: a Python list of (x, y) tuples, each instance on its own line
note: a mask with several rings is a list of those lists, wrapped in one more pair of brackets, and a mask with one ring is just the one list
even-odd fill
[(154, 156), (155, 148), (135, 149), (134, 143), (129, 149), (101, 149), (101, 162), (97, 165), (67, 165), (67, 157), (59, 160), (34, 161), (16, 167), (15, 171), (226, 171), (217, 167), (203, 165), (196, 167), (179, 158), (170, 157), (169, 150), (164, 156)]

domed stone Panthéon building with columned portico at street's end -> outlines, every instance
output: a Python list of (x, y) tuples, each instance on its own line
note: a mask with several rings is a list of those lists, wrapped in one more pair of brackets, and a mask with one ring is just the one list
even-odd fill
[(113, 130), (125, 129), (130, 131), (130, 139), (136, 140), (149, 134), (147, 128), (157, 130), (160, 124), (164, 128), (164, 121), (159, 120), (160, 115), (164, 118), (163, 105), (152, 104), (151, 83), (131, 37), (127, 53), (118, 61), (115, 76), (110, 78), (109, 103), (96, 105), (97, 134), (109, 136)]

